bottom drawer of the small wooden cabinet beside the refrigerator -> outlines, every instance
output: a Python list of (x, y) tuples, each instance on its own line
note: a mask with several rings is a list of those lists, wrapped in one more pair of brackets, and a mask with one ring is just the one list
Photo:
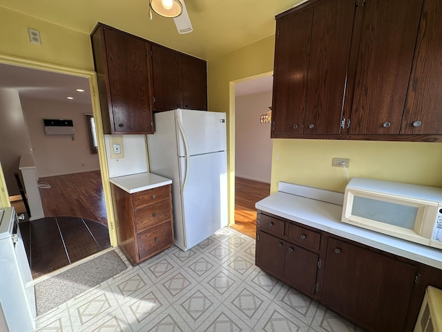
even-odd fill
[(137, 235), (140, 259), (155, 255), (173, 245), (172, 223), (163, 223)]

